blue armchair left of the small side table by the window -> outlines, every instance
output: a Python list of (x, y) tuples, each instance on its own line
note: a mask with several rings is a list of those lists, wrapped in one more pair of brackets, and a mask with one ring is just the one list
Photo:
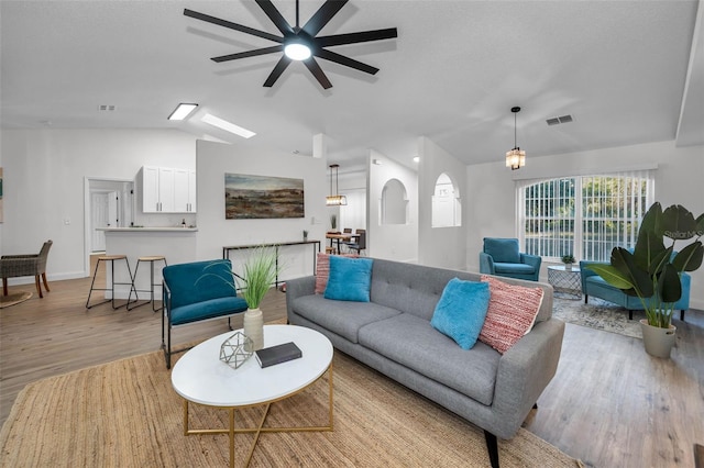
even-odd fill
[(542, 258), (518, 252), (517, 238), (484, 237), (480, 272), (538, 281)]

